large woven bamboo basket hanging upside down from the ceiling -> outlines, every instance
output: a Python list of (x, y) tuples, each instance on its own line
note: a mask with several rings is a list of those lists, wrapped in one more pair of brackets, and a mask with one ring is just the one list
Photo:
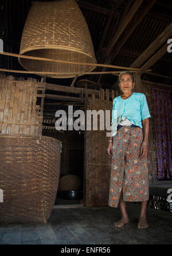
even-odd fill
[[(84, 65), (96, 63), (96, 58), (87, 23), (75, 0), (33, 2), (25, 22), (19, 53), (83, 63), (75, 65), (19, 58), (19, 63), (26, 70), (45, 71), (46, 77), (75, 77), (76, 74), (70, 73), (95, 69), (94, 66)], [(46, 72), (68, 74), (49, 75)]]

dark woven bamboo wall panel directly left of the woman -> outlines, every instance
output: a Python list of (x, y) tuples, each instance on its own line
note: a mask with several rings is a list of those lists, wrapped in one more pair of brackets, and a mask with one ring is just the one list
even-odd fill
[[(116, 97), (112, 91), (112, 99)], [(112, 111), (112, 99), (108, 90), (101, 90), (99, 98), (88, 97), (87, 110)], [(85, 138), (85, 178), (87, 206), (107, 205), (111, 175), (111, 157), (107, 154), (107, 131), (86, 131)]]

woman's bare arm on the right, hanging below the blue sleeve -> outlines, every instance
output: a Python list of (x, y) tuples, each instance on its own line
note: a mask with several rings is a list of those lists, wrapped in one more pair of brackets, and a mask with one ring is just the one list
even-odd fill
[[(149, 120), (148, 118), (142, 120), (142, 126), (143, 126), (143, 142), (148, 144), (148, 131), (149, 131)], [(139, 159), (142, 159), (143, 157), (147, 156), (147, 145), (143, 144), (140, 147), (140, 156)]]

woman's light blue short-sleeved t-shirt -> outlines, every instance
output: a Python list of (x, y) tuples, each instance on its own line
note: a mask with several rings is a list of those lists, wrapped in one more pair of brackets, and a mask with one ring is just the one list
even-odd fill
[(116, 97), (113, 101), (111, 124), (114, 123), (114, 118), (116, 117), (116, 125), (119, 124), (123, 117), (126, 117), (133, 125), (143, 128), (142, 120), (151, 117), (146, 96), (143, 93), (133, 92), (126, 100), (123, 100), (120, 96)]

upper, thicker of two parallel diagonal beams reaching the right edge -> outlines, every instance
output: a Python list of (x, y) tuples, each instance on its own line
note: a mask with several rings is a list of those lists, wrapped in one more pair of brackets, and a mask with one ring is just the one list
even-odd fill
[(143, 63), (159, 48), (163, 43), (167, 41), (172, 35), (172, 22), (170, 25), (164, 29), (164, 31), (154, 40), (150, 46), (139, 56), (138, 59), (132, 63), (130, 67), (140, 67)]

